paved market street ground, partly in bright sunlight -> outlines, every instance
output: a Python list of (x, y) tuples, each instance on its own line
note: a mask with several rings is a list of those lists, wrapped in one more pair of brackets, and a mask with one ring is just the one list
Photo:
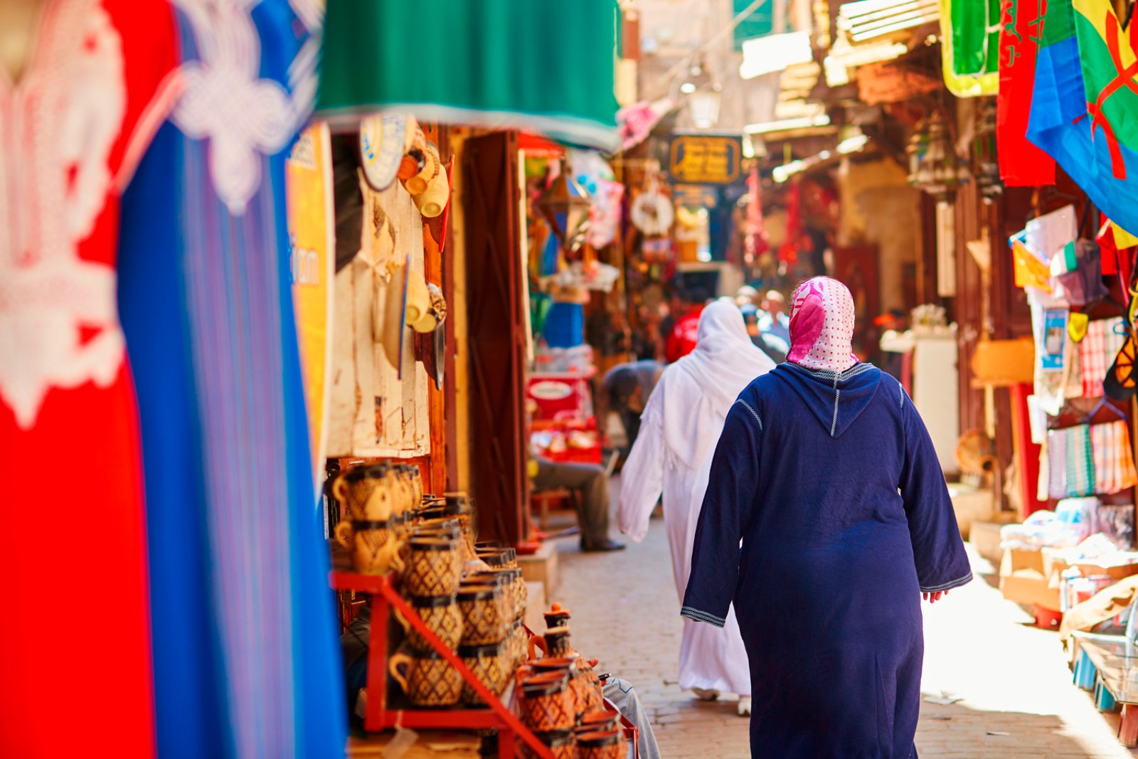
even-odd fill
[[(663, 757), (749, 756), (748, 720), (733, 701), (699, 702), (675, 685), (681, 619), (663, 522), (653, 520), (644, 543), (619, 553), (582, 554), (575, 538), (559, 547), (554, 600), (574, 611), (575, 646), (636, 685)], [(974, 566), (990, 571), (983, 560)], [(979, 578), (925, 605), (923, 691), (960, 701), (922, 704), (922, 759), (1132, 756), (1114, 737), (1114, 723), (1071, 684), (1058, 636), (1029, 621)]]

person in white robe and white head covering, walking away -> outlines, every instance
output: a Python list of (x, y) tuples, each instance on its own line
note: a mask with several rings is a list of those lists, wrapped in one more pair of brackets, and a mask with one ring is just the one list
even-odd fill
[[(649, 518), (663, 496), (663, 522), (681, 602), (724, 420), (743, 388), (774, 366), (751, 343), (739, 308), (718, 300), (700, 316), (695, 350), (663, 370), (644, 409), (641, 432), (620, 475), (620, 531), (637, 543), (643, 541)], [(751, 678), (734, 609), (723, 628), (684, 620), (679, 687), (701, 699), (737, 693), (740, 715), (750, 713)]]

